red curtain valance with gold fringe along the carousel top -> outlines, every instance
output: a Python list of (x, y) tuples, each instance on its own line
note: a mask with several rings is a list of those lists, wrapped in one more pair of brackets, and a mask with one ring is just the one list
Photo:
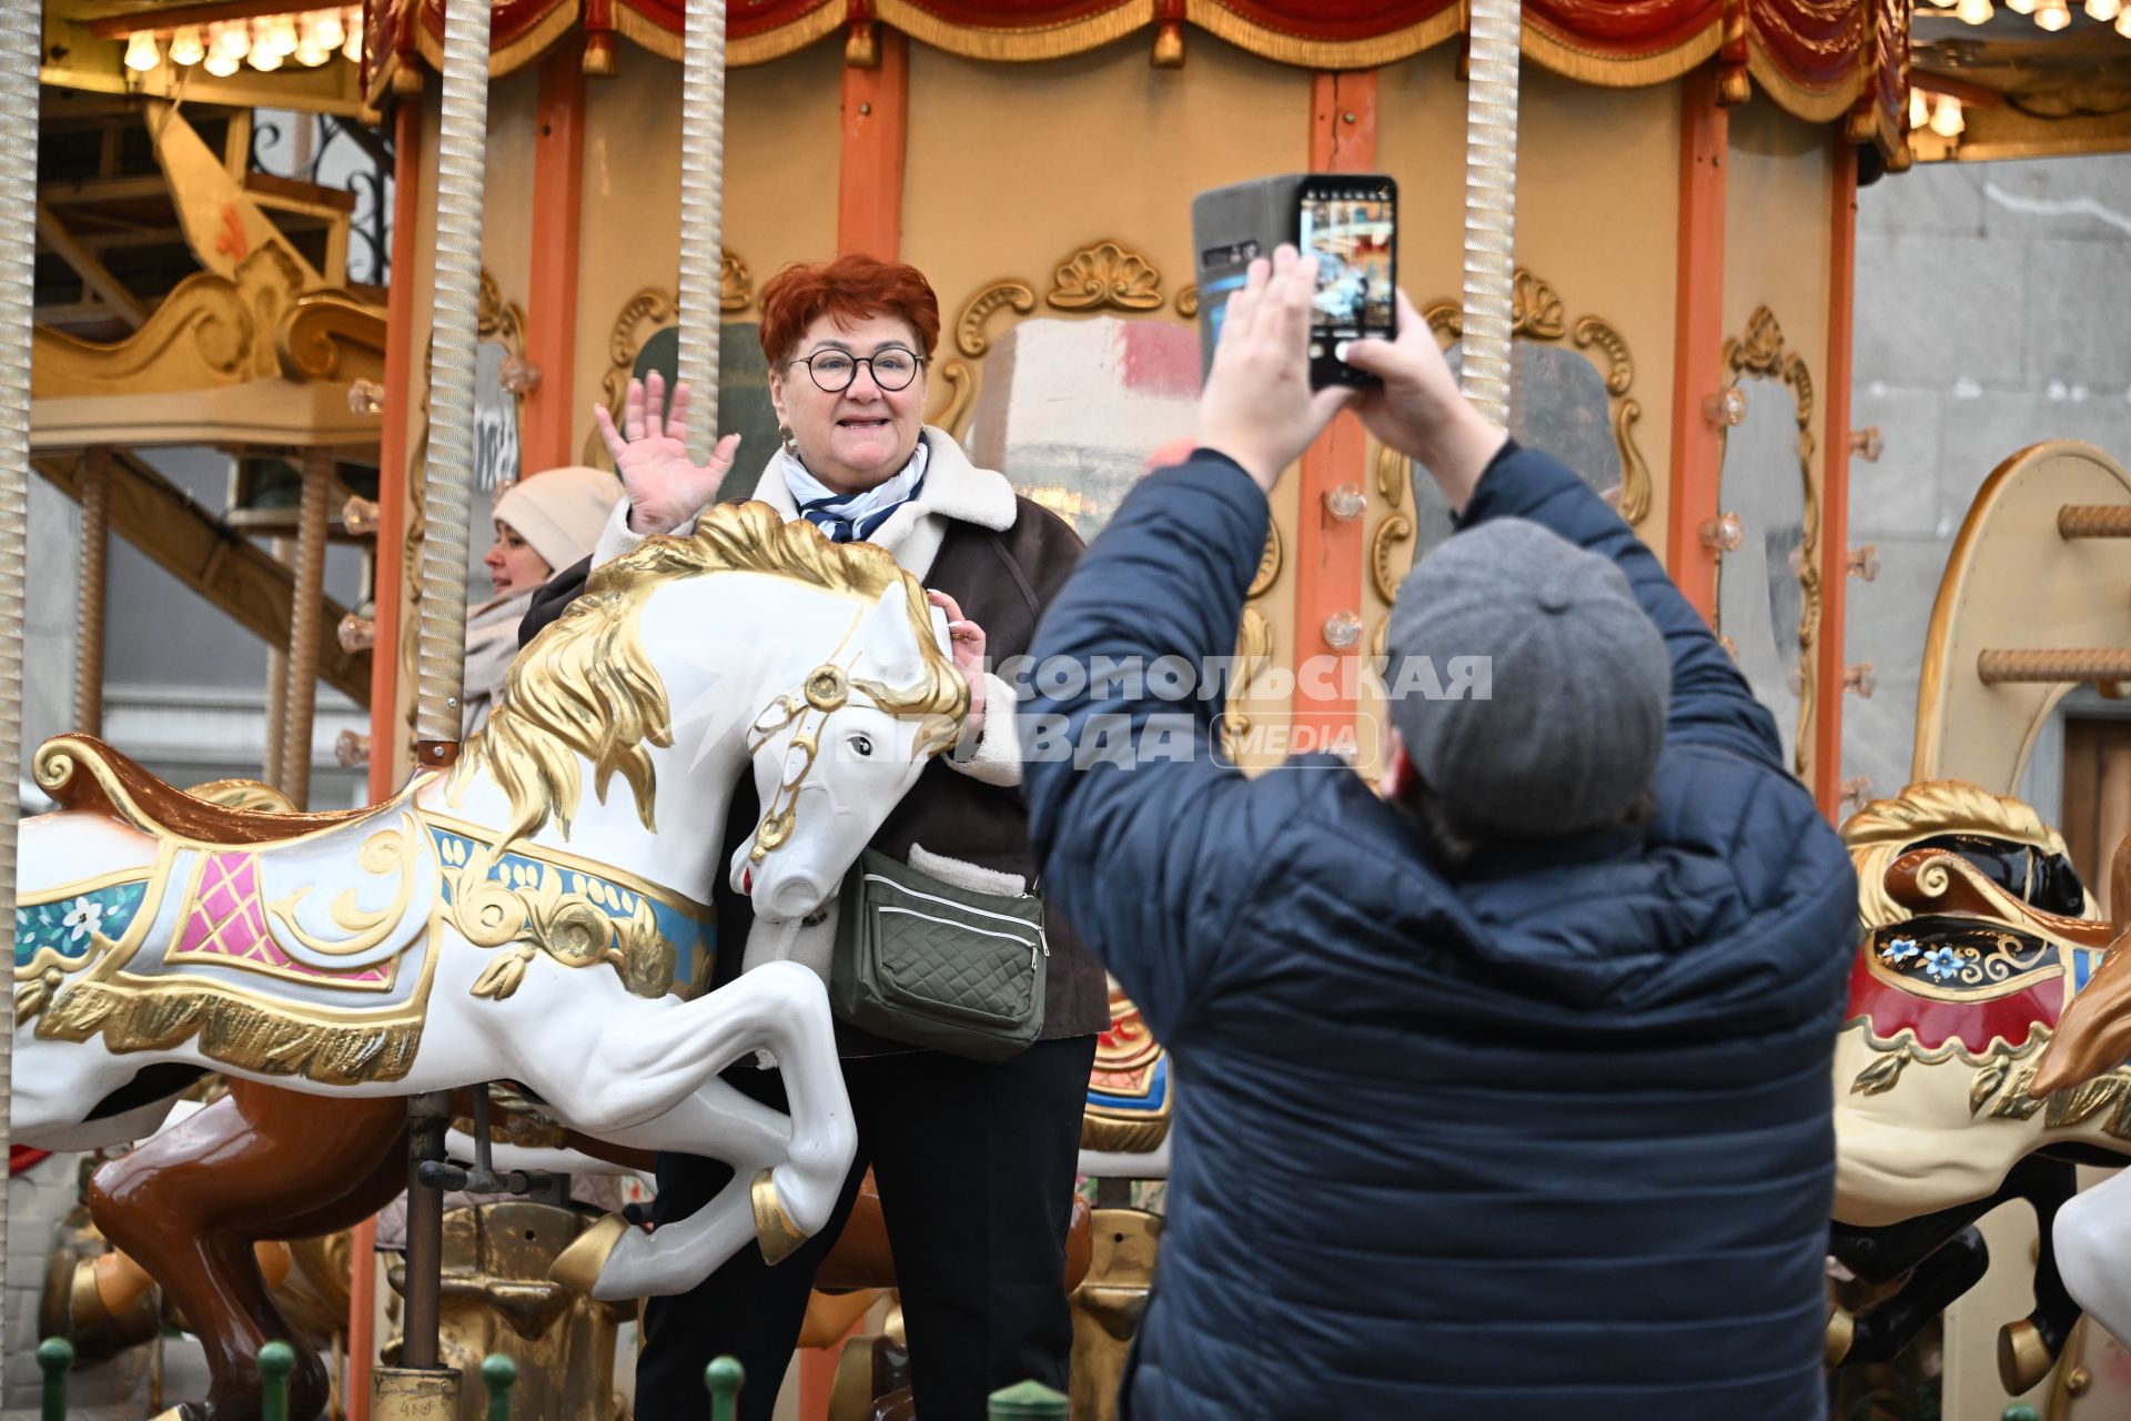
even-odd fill
[[(531, 62), (569, 30), (586, 68), (612, 72), (614, 40), (680, 58), (684, 0), (492, 0), (492, 75)], [(441, 0), (369, 0), (369, 92), (435, 66)], [(876, 26), (974, 60), (1055, 60), (1153, 32), (1157, 64), (1183, 62), (1189, 28), (1306, 68), (1374, 68), (1453, 40), (1458, 0), (733, 0), (731, 64), (763, 64), (831, 34), (867, 64)], [(1852, 115), (1862, 138), (1892, 134), (1907, 62), (1907, 0), (1526, 0), (1526, 55), (1596, 85), (1664, 83), (1720, 55), (1722, 92), (1758, 85), (1813, 121)]]

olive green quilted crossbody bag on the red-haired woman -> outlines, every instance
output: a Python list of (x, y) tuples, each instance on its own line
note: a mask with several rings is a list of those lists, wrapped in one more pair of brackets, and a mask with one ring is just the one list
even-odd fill
[(1044, 903), (865, 850), (837, 899), (829, 1003), (891, 1042), (1004, 1061), (1044, 1029)]

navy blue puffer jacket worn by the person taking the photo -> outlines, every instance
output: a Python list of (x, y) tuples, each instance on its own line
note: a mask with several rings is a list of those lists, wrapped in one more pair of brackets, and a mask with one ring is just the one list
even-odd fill
[[(1613, 558), (1664, 633), (1641, 837), (1447, 871), (1336, 761), (1219, 767), (1213, 703), (1191, 756), (1089, 754), (1181, 709), (1121, 677), (1025, 703), (1046, 878), (1178, 1080), (1134, 1421), (1822, 1415), (1850, 861), (1575, 473), (1511, 447), (1462, 526), (1502, 516)], [(1227, 656), (1266, 522), (1225, 458), (1146, 477), (1038, 665)]]

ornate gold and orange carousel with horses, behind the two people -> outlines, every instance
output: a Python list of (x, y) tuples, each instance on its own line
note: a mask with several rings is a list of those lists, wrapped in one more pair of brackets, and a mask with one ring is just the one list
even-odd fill
[[(927, 422), (1095, 537), (1193, 428), (1191, 194), (1319, 170), (1398, 181), (1398, 281), (1468, 392), (1658, 550), (1794, 773), (1850, 820), (1835, 1385), (1899, 1370), (1924, 1338), (1961, 1421), (2014, 1398), (2122, 1415), (2131, 1306), (2108, 1263), (2125, 1244), (2108, 1191), (2080, 1187), (2131, 1153), (2110, 1059), (2127, 1048), (2114, 997), (2091, 1020), (2067, 1003), (2110, 984), (2131, 910), (2118, 893), (2112, 920), (2014, 797), (2071, 686), (2131, 682), (2112, 541), (2131, 535), (2131, 477), (2082, 445), (2010, 460), (1933, 618), (1912, 788), (1860, 803), (1839, 746), (1843, 699), (1871, 690), (1843, 660), (1843, 588), (1871, 571), (1845, 539), (1848, 467), (1875, 456), (1848, 413), (1858, 183), (2131, 132), (2082, 111), (2052, 128), (2005, 98), (2012, 60), (2001, 87), (1988, 64), (1956, 77), (1948, 40), (1924, 47), (1941, 17), (1912, 36), (1907, 0), (1360, 9), (51, 0), (34, 79), (34, 11), (0, 11), (0, 181), (17, 185), (0, 298), (21, 328), (0, 360), (0, 744), (19, 726), (4, 622), (30, 473), (83, 528), (75, 665), (32, 667), (75, 686), (72, 733), (21, 756), (55, 810), (19, 848), (0, 816), (21, 1057), (9, 1406), (30, 1404), (38, 1338), (64, 1336), (79, 1415), (249, 1421), (256, 1357), (290, 1340), (290, 1415), (482, 1417), (482, 1359), (503, 1355), (518, 1415), (627, 1417), (637, 1300), (737, 1248), (780, 1257), (820, 1227), (852, 1148), (818, 982), (765, 967), (690, 991), (718, 946), (720, 865), (648, 827), (716, 824), (722, 801), (654, 771), (699, 756), (739, 775), (829, 716), (872, 716), (914, 778), (959, 712), (884, 554), (823, 556), (735, 511), (522, 658), (590, 712), (462, 737), (469, 528), (516, 481), (609, 467), (592, 409), (620, 418), (652, 373), (699, 392), (697, 458), (714, 430), (744, 435), (757, 454), (727, 494), (744, 492), (776, 443), (759, 285), (867, 251), (944, 303)], [(1933, 128), (1946, 98), (1975, 115), (1973, 153)], [(260, 170), (269, 121), (315, 134), (298, 177)], [(1999, 132), (2018, 136), (1992, 147)], [(360, 192), (322, 181), (328, 136), (362, 153)], [(79, 170), (53, 181), (62, 153)], [(226, 456), (226, 507), (158, 473), (166, 450)], [(113, 533), (266, 643), (254, 771), (177, 784), (104, 744), (104, 628), (143, 616), (104, 605)], [(1374, 654), (1402, 573), (1447, 535), (1424, 471), (1351, 420), (1328, 430), (1274, 492), (1249, 675), (1221, 718), (1232, 758), (1334, 748), (1374, 773), (1383, 714), (1360, 677), (1296, 671)], [(347, 605), (326, 594), (328, 548), (360, 554)], [(676, 626), (748, 616), (765, 575), (803, 584), (780, 603), (808, 628), (799, 658), (690, 684)], [(863, 631), (840, 641), (827, 609), (852, 599)], [(627, 695), (586, 671), (618, 639), (648, 669)], [(341, 744), (367, 793), (335, 803), (313, 790), (320, 684), (369, 712)], [(665, 705), (714, 695), (737, 697), (737, 724), (765, 705), (782, 720), (761, 741), (656, 744)], [(823, 863), (833, 884), (865, 837), (846, 829), (786, 822), (757, 878)], [(1924, 967), (1956, 957), (1975, 982)], [(2054, 1035), (2088, 1048), (2048, 1059)], [(795, 1080), (776, 1140), (718, 1095), (718, 1069), (757, 1048)], [(2029, 1093), (2037, 1072), (2054, 1093)], [(1112, 993), (1059, 1402), (1083, 1421), (1112, 1415), (1155, 1274), (1170, 1091)], [(658, 1148), (720, 1155), (746, 1189), (656, 1236), (571, 1204), (563, 1176), (641, 1197)], [(379, 1251), (373, 1216), (409, 1185), (405, 1236)], [(448, 1189), (492, 1202), (445, 1208)], [(2039, 1234), (1984, 1216), (2016, 1197)], [(914, 1415), (893, 1289), (861, 1193), (780, 1415)], [(194, 1391), (162, 1361), (177, 1321), (198, 1338)]]

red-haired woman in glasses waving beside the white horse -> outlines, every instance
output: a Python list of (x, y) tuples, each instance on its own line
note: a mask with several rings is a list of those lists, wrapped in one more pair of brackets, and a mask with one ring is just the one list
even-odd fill
[[(938, 337), (940, 303), (914, 266), (842, 256), (778, 273), (763, 288), (763, 354), (782, 447), (750, 496), (837, 541), (886, 548), (946, 611), (955, 660), (970, 680), (970, 720), (874, 848), (944, 882), (1021, 893), (1036, 865), (1019, 790), (1014, 692), (985, 669), (987, 652), (993, 663), (1027, 652), (1080, 539), (1016, 496), (1004, 475), (970, 464), (946, 430), (925, 424), (925, 366)], [(648, 390), (631, 383), (620, 430), (605, 409), (595, 411), (629, 490), (595, 560), (690, 526), (733, 467), (737, 435), (720, 439), (707, 464), (688, 462), (686, 386), (673, 390), (671, 413), (661, 418), (661, 407), (652, 375)], [(560, 603), (543, 607), (552, 614)], [(541, 607), (533, 620), (539, 616)], [(752, 797), (752, 784), (742, 797)], [(727, 859), (754, 820), (748, 805), (735, 805)], [(716, 908), (718, 937), (746, 942), (746, 899), (727, 895)], [(1102, 969), (1055, 918), (1048, 940), (1042, 1038), (1014, 1059), (970, 1061), (840, 1025), (859, 1157), (835, 1214), (776, 1268), (744, 1248), (695, 1293), (650, 1300), (639, 1421), (701, 1417), (703, 1363), (718, 1353), (739, 1357), (754, 1378), (742, 1417), (769, 1419), (774, 1378), (799, 1338), (814, 1270), (867, 1165), (895, 1253), (916, 1412), (974, 1421), (997, 1387), (1029, 1376), (1066, 1387), (1066, 1225), (1108, 991)], [(718, 954), (720, 982), (739, 967), (737, 950)], [(784, 1104), (776, 1069), (735, 1067), (727, 1080)], [(686, 1216), (729, 1176), (716, 1161), (661, 1155), (654, 1219)]]

